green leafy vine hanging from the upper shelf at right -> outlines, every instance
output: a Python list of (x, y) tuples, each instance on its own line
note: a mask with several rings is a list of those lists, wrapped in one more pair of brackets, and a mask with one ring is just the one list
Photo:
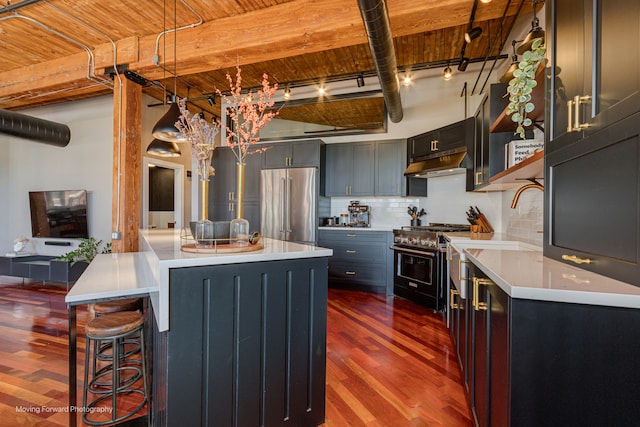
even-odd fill
[(507, 87), (509, 95), (507, 115), (511, 115), (511, 120), (518, 124), (515, 133), (522, 139), (525, 138), (524, 128), (533, 123), (527, 114), (535, 108), (531, 102), (531, 92), (538, 84), (536, 70), (544, 60), (546, 48), (543, 42), (543, 39), (534, 40), (531, 49), (522, 54), (518, 69), (513, 72), (513, 78)]

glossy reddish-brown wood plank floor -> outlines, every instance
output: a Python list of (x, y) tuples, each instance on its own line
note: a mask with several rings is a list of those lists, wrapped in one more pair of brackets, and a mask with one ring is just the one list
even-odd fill
[[(66, 289), (0, 282), (0, 424), (66, 426)], [(90, 314), (77, 316), (81, 331)], [(329, 291), (325, 427), (470, 425), (442, 314), (398, 298)]]

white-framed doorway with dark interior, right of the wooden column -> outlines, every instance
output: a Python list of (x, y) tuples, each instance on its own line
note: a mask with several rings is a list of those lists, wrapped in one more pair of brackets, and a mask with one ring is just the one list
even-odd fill
[(144, 157), (142, 167), (142, 228), (182, 227), (184, 166)]

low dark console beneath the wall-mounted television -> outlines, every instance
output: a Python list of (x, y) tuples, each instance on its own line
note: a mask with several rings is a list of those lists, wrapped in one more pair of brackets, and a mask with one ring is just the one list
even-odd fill
[(75, 283), (89, 265), (84, 261), (71, 265), (68, 261), (56, 261), (56, 259), (57, 257), (48, 255), (0, 257), (0, 275), (45, 282), (62, 282), (68, 289), (69, 285)]

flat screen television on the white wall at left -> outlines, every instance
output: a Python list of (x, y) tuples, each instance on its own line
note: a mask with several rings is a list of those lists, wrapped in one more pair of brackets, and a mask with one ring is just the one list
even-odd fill
[(30, 191), (33, 237), (89, 238), (87, 191)]

